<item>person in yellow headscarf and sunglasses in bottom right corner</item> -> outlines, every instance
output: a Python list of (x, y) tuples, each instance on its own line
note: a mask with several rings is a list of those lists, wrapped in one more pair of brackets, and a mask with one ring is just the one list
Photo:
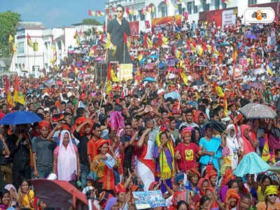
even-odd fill
[(265, 188), (265, 201), (258, 202), (255, 206), (258, 210), (279, 210), (280, 203), (276, 202), (279, 197), (279, 189), (277, 186), (267, 186)]

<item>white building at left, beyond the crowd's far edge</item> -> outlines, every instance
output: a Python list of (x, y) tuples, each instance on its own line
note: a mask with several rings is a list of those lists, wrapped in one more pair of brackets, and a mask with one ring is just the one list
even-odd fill
[[(48, 72), (49, 67), (53, 65), (50, 61), (55, 52), (57, 52), (55, 64), (59, 64), (67, 56), (70, 46), (77, 47), (76, 39), (73, 38), (76, 31), (80, 33), (92, 27), (102, 30), (102, 26), (94, 25), (46, 29), (41, 22), (19, 22), (15, 35), (18, 52), (13, 55), (10, 71), (20, 75), (28, 73), (31, 76), (41, 76), (43, 69)], [(27, 35), (33, 43), (38, 43), (38, 51), (34, 51), (28, 45)], [(80, 36), (80, 41), (83, 41), (83, 36)], [(51, 45), (54, 45), (55, 50), (51, 48)]]

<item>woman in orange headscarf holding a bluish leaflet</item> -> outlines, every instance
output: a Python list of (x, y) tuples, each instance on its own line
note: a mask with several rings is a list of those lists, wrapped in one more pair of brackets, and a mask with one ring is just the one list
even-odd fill
[[(97, 190), (99, 193), (102, 190), (108, 190), (113, 194), (116, 184), (113, 168), (118, 168), (120, 166), (120, 158), (114, 155), (113, 148), (110, 146), (110, 141), (108, 140), (100, 139), (97, 144), (97, 150), (98, 155), (94, 157), (90, 165), (90, 171), (97, 174)], [(115, 162), (116, 164), (108, 166), (106, 160), (109, 158), (112, 158), (111, 162)]]

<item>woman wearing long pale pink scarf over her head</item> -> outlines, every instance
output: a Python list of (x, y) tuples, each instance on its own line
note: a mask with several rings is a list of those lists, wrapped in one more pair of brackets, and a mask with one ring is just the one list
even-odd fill
[(76, 181), (80, 178), (80, 160), (78, 150), (71, 140), (68, 130), (60, 134), (59, 146), (53, 152), (52, 172), (58, 180)]

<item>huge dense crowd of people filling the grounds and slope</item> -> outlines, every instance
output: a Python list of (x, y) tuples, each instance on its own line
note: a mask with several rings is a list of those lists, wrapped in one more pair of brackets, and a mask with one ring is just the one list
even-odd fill
[(265, 162), (280, 160), (280, 118), (239, 112), (250, 102), (280, 111), (280, 25), (237, 18), (228, 28), (186, 21), (161, 30), (131, 37), (134, 79), (112, 90), (97, 85), (106, 36), (96, 32), (80, 45), (87, 55), (69, 55), (44, 78), (20, 78), (25, 104), (3, 97), (2, 118), (27, 110), (42, 120), (0, 127), (1, 209), (45, 209), (29, 179), (50, 174), (91, 190), (97, 209), (135, 209), (133, 192), (146, 190), (166, 200), (155, 209), (280, 209), (277, 172), (234, 174), (267, 142)]

